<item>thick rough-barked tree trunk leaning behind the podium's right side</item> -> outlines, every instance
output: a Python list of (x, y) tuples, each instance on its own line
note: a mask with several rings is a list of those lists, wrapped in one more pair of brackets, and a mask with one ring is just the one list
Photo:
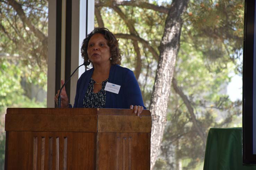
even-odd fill
[(176, 57), (180, 47), (181, 16), (186, 11), (188, 0), (173, 0), (165, 21), (164, 34), (160, 46), (155, 84), (151, 98), (151, 169), (153, 168), (166, 125), (167, 106), (171, 89)]

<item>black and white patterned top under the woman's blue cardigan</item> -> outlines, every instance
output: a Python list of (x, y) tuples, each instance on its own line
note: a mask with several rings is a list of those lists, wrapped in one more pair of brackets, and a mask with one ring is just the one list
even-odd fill
[(104, 90), (108, 79), (102, 82), (102, 88), (99, 92), (93, 92), (93, 84), (96, 83), (92, 77), (89, 81), (87, 91), (84, 96), (84, 108), (103, 108), (106, 101), (106, 91)]

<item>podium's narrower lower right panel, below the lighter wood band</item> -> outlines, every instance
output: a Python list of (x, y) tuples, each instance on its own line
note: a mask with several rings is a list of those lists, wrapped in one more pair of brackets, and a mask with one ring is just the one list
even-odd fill
[(98, 133), (96, 170), (150, 170), (150, 133)]

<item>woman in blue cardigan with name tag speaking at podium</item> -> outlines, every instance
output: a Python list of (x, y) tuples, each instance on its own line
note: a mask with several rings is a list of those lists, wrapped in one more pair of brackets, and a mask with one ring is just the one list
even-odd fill
[[(134, 73), (119, 66), (121, 54), (118, 40), (106, 28), (95, 28), (84, 39), (81, 48), (86, 70), (77, 81), (73, 107), (130, 108), (138, 115), (146, 109)], [(61, 80), (61, 84), (64, 81)], [(59, 91), (55, 96), (58, 100)], [(68, 103), (65, 88), (61, 92), (61, 107), (72, 107)]]

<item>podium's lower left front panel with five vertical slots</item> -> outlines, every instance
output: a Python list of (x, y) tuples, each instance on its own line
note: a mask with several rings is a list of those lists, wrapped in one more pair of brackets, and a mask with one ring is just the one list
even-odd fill
[[(95, 169), (96, 133), (7, 132), (8, 170)], [(32, 161), (33, 160), (33, 161)]]

